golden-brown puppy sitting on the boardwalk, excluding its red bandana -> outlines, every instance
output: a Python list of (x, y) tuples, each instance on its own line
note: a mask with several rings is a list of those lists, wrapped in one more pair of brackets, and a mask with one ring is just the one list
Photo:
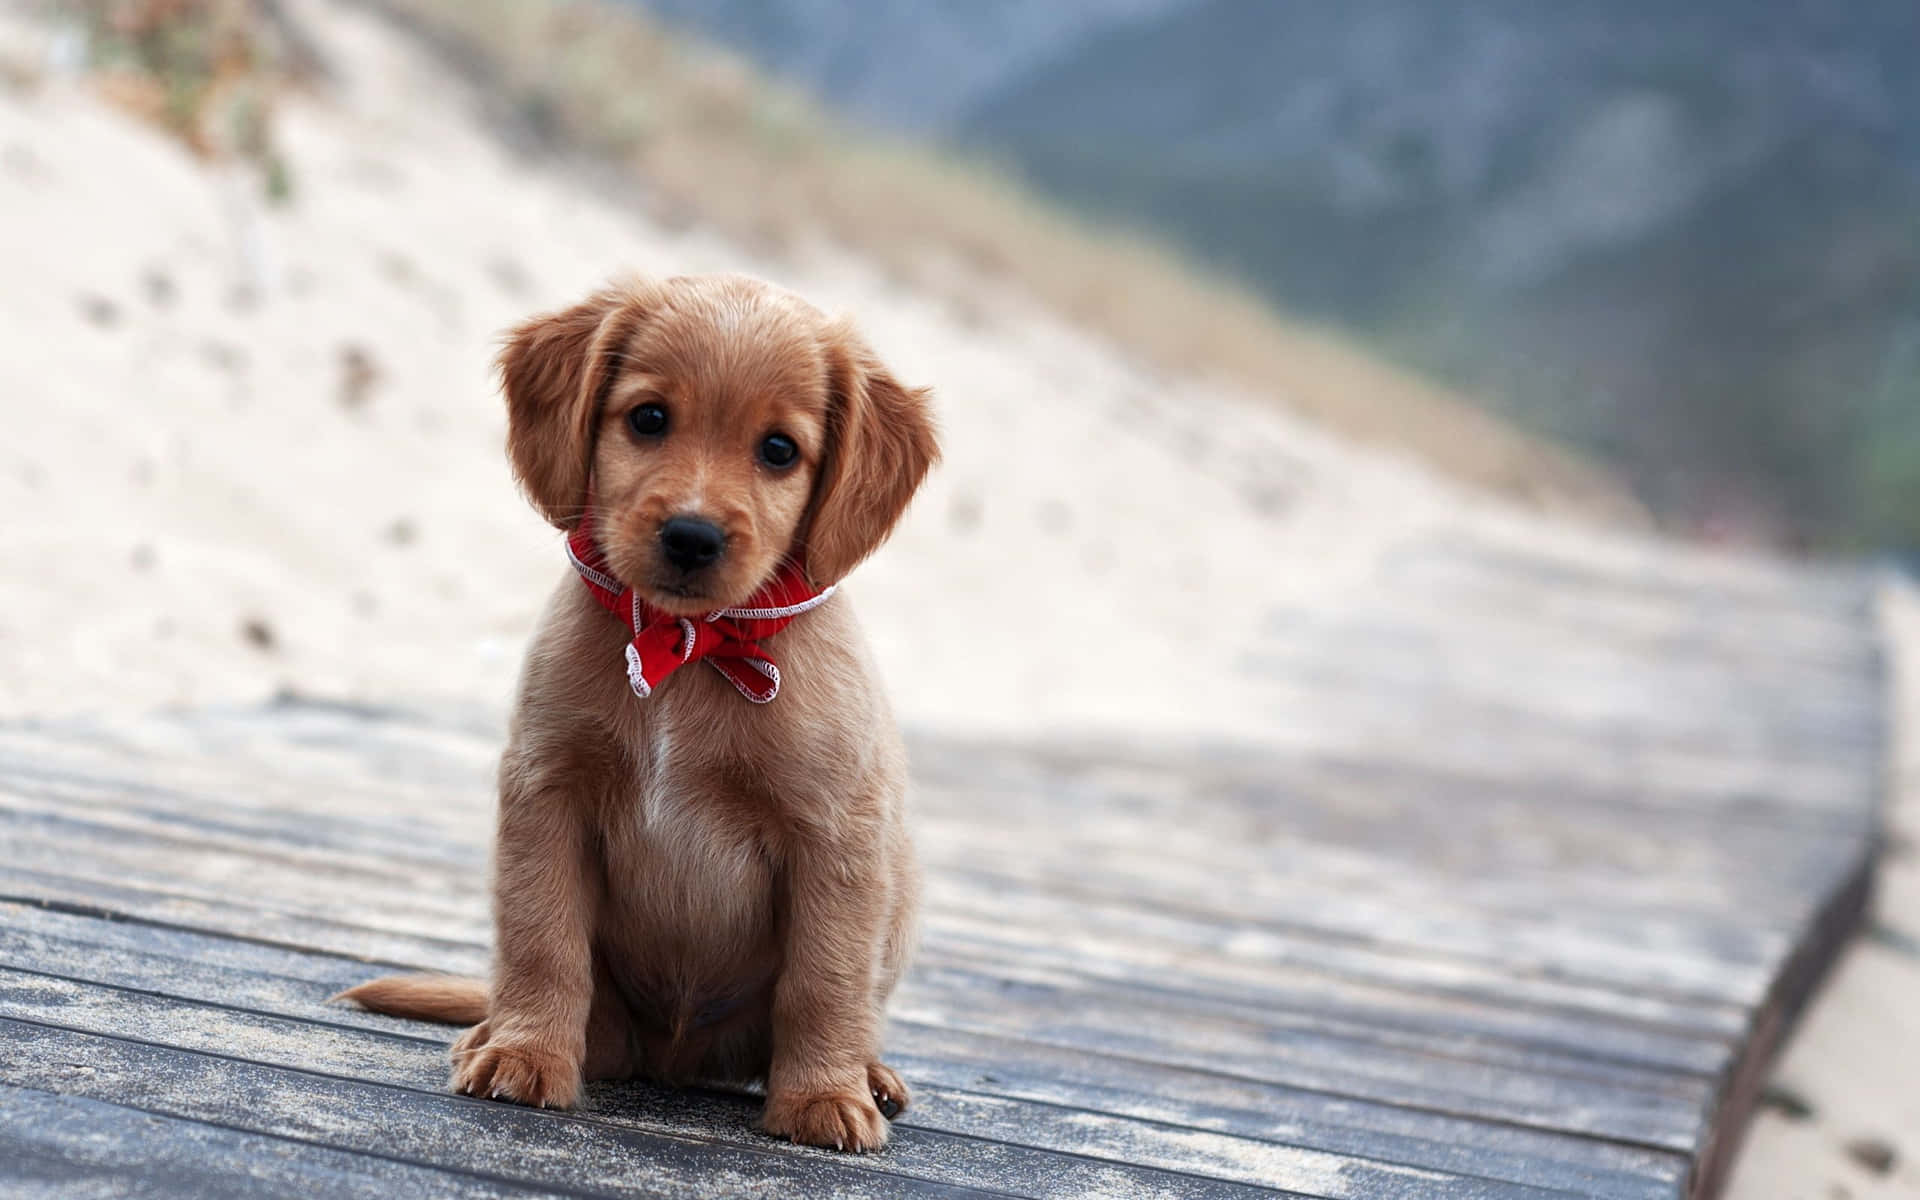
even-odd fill
[[(609, 574), (689, 622), (791, 564), (835, 584), (939, 453), (924, 392), (847, 323), (743, 276), (609, 288), (515, 330), (501, 372), (534, 505), (570, 532), (591, 511)], [(390, 977), (344, 996), (472, 1023), (453, 1089), (474, 1096), (764, 1081), (768, 1133), (879, 1148), (881, 1106), (906, 1106), (879, 1033), (918, 868), (854, 614), (835, 593), (764, 641), (770, 703), (701, 662), (639, 697), (632, 637), (568, 570), (499, 768), (492, 987)]]

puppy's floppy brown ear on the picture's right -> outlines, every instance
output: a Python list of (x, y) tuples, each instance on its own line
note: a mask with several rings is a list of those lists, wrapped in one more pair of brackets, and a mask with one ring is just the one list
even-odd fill
[(941, 457), (925, 388), (904, 388), (847, 321), (826, 336), (828, 444), (806, 522), (806, 574), (839, 582), (893, 532)]

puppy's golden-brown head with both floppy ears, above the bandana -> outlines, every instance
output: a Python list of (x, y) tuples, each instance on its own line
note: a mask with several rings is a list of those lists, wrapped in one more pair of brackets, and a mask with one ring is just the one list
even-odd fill
[(609, 288), (501, 351), (507, 451), (609, 564), (680, 614), (737, 605), (781, 563), (816, 586), (870, 555), (937, 457), (924, 390), (845, 321), (753, 278)]

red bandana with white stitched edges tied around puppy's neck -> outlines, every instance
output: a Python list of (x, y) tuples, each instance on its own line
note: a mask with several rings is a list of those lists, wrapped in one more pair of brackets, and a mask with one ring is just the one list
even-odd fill
[(806, 574), (789, 563), (739, 609), (718, 609), (699, 620), (662, 612), (612, 576), (607, 555), (593, 540), (593, 513), (566, 538), (566, 557), (601, 609), (634, 630), (634, 641), (626, 645), (626, 680), (641, 699), (687, 662), (707, 659), (743, 697), (764, 705), (780, 695), (780, 668), (760, 649), (760, 639), (833, 595), (831, 588), (814, 591)]

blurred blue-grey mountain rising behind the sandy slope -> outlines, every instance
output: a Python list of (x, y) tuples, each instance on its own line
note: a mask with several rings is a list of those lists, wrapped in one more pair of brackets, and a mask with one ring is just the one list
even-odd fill
[(1601, 451), (1920, 541), (1914, 0), (651, 0)]

